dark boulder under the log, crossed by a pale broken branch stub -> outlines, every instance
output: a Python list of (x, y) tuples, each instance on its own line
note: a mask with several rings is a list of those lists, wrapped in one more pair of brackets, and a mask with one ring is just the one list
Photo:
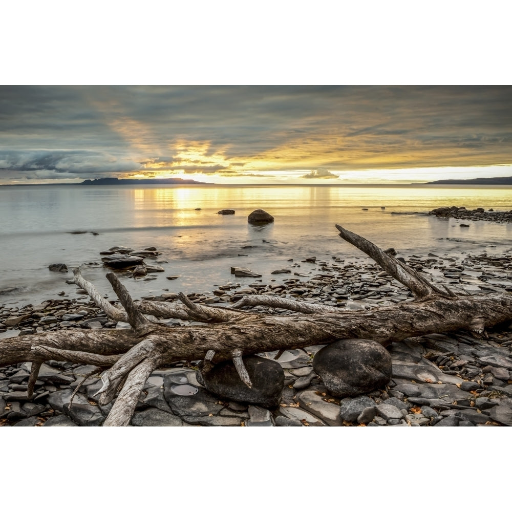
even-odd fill
[(279, 362), (256, 355), (244, 356), (243, 360), (252, 388), (242, 382), (231, 361), (221, 362), (203, 373), (204, 387), (224, 400), (247, 402), (265, 408), (279, 406), (285, 384)]

